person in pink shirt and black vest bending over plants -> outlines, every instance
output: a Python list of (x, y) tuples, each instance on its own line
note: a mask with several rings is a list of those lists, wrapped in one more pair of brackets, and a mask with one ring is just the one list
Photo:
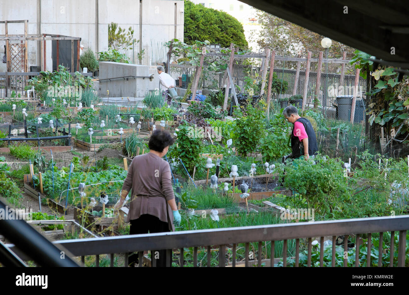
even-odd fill
[(317, 138), (311, 122), (299, 116), (297, 108), (293, 105), (286, 107), (283, 115), (288, 122), (294, 124), (291, 133), (292, 159), (304, 156), (304, 159), (308, 160), (310, 156), (317, 154)]

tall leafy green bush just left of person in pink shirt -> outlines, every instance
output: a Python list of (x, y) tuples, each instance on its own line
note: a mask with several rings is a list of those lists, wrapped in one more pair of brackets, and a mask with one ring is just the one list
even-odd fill
[(247, 105), (245, 111), (247, 112), (246, 116), (239, 108), (234, 111), (236, 126), (234, 127), (233, 143), (242, 156), (254, 152), (264, 134), (264, 112), (252, 107), (251, 104)]

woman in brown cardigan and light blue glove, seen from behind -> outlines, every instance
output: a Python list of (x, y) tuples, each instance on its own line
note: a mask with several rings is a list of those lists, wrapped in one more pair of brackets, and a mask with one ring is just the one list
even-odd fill
[[(149, 139), (150, 152), (136, 156), (128, 169), (121, 191), (121, 199), (114, 209), (121, 208), (126, 195), (132, 192), (126, 222), (130, 222), (130, 235), (174, 231), (173, 222), (180, 223), (180, 214), (175, 203), (169, 163), (162, 159), (173, 139), (169, 132), (156, 130)], [(156, 255), (155, 255), (156, 254)], [(157, 266), (166, 266), (166, 250), (151, 251), (152, 261)], [(138, 263), (135, 254), (130, 255), (131, 266)]]

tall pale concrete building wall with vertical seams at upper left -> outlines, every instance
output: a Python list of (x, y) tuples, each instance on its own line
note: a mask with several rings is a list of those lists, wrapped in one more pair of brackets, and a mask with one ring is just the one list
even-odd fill
[[(141, 3), (142, 36), (139, 30)], [(126, 30), (132, 27), (134, 38), (141, 40), (142, 49), (145, 49), (142, 64), (156, 65), (157, 59), (166, 58), (164, 42), (173, 38), (183, 40), (183, 10), (182, 0), (1, 0), (0, 20), (28, 19), (29, 34), (80, 37), (85, 49), (91, 48), (94, 52), (108, 49), (108, 24), (117, 22)], [(9, 24), (9, 34), (20, 33), (24, 33), (24, 24)], [(3, 24), (0, 24), (0, 34), (4, 34)], [(1, 55), (4, 44), (0, 41)], [(28, 47), (29, 66), (40, 65), (39, 42), (29, 41)], [(51, 70), (51, 41), (46, 41), (46, 47), (47, 70)], [(131, 62), (138, 63), (139, 50), (137, 43), (128, 54)], [(5, 70), (5, 64), (0, 63), (0, 71)]]

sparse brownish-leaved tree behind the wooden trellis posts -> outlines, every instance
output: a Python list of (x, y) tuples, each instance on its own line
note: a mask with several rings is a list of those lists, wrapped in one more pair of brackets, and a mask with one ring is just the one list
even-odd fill
[[(258, 22), (263, 25), (258, 39), (256, 40), (260, 47), (270, 46), (274, 48), (279, 55), (307, 57), (308, 51), (312, 51), (314, 58), (317, 58), (319, 51), (324, 51), (326, 58), (326, 49), (321, 46), (321, 36), (313, 31), (303, 28), (282, 18), (273, 16), (265, 11), (257, 11)], [(351, 59), (355, 54), (355, 49), (332, 40), (332, 45), (328, 51), (328, 58), (342, 58), (343, 51), (346, 51), (346, 59)], [(296, 67), (297, 62), (285, 62), (286, 67)], [(317, 71), (317, 63), (311, 63), (311, 70)], [(325, 64), (323, 64), (323, 71)], [(328, 63), (328, 72), (337, 73), (341, 70), (341, 64)], [(346, 74), (353, 74), (354, 68), (347, 64)]]

